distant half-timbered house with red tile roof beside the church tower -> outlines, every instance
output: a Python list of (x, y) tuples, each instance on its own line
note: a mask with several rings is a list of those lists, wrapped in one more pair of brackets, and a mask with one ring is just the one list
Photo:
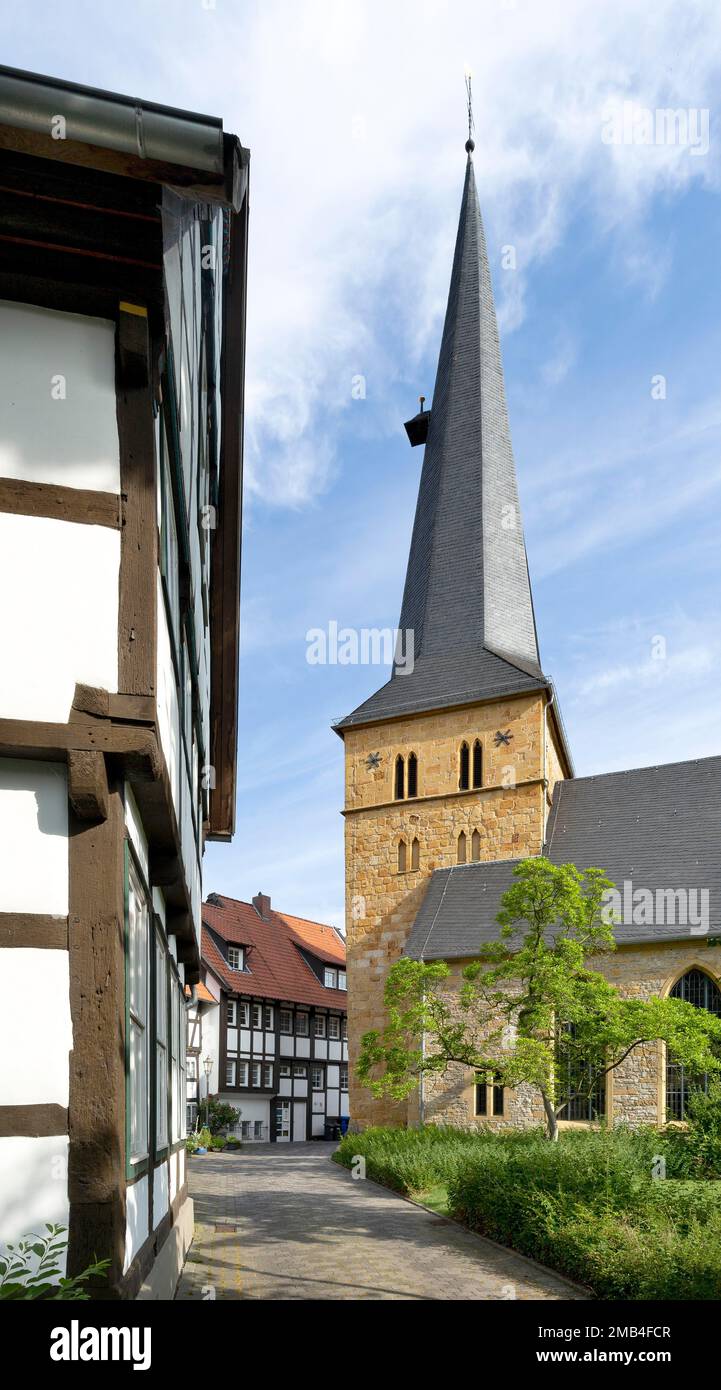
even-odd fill
[(214, 892), (203, 903), (201, 955), (192, 1112), (203, 1119), (210, 1090), (240, 1111), (235, 1133), (246, 1143), (339, 1131), (349, 1115), (342, 935), (278, 912), (267, 894), (238, 902)]

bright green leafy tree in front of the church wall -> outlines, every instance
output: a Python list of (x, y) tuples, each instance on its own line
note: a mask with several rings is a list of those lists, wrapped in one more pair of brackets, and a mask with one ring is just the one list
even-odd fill
[(692, 1074), (720, 1072), (721, 1019), (682, 999), (622, 998), (590, 969), (590, 958), (615, 949), (610, 888), (600, 869), (524, 859), (502, 898), (499, 938), (463, 969), (457, 990), (445, 960), (392, 966), (388, 1023), (363, 1037), (358, 1080), (393, 1099), (451, 1063), (502, 1086), (525, 1083), (540, 1094), (554, 1140), (564, 1106), (593, 1097), (642, 1044), (664, 1041)]

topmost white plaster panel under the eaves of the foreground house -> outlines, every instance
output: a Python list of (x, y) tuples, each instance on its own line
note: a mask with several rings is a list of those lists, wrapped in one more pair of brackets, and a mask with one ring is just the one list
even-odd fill
[(110, 320), (0, 300), (0, 477), (119, 492)]

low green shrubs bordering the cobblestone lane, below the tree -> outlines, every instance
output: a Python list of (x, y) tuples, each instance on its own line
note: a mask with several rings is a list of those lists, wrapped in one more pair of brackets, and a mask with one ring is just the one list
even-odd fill
[[(338, 1161), (403, 1193), (445, 1183), (451, 1215), (589, 1284), (600, 1298), (721, 1298), (721, 1183), (689, 1182), (683, 1134), (349, 1134)], [(654, 1179), (658, 1159), (665, 1180)]]

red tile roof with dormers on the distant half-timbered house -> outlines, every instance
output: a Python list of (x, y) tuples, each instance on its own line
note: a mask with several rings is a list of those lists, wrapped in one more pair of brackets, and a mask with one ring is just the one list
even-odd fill
[[(214, 895), (215, 897), (215, 895)], [(271, 908), (267, 922), (253, 903), (219, 898), (203, 903), (201, 954), (207, 966), (231, 994), (257, 995), (295, 1004), (315, 1004), (329, 1009), (347, 1008), (345, 990), (326, 990), (311, 970), (301, 951), (320, 960), (343, 967), (346, 948), (333, 927), (306, 917), (293, 917)], [(208, 927), (224, 941), (247, 948), (247, 970), (231, 970), (215, 945)]]

